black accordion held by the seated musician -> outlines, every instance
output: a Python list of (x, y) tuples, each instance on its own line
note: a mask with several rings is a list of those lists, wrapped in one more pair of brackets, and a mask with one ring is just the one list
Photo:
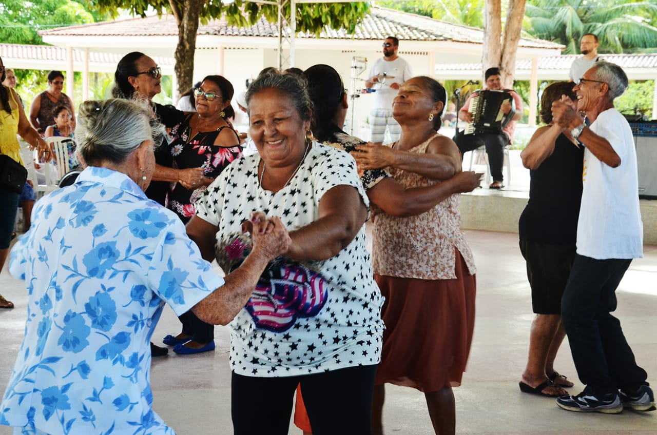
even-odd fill
[(505, 101), (514, 105), (507, 91), (478, 91), (478, 95), (470, 100), (468, 112), (472, 114), (472, 122), (468, 123), (463, 134), (502, 133), (514, 114), (513, 110), (508, 114), (502, 112), (502, 103)]

